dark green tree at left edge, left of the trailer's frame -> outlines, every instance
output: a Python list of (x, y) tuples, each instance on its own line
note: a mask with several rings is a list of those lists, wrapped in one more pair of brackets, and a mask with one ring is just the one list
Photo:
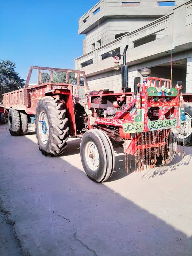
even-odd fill
[(15, 71), (15, 63), (10, 60), (0, 60), (0, 102), (3, 93), (22, 88), (24, 81)]

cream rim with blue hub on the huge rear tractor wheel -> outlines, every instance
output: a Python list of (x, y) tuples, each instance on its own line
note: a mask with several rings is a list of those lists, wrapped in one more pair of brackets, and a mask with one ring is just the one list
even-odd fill
[(38, 131), (41, 142), (46, 145), (49, 139), (49, 123), (44, 111), (39, 114)]

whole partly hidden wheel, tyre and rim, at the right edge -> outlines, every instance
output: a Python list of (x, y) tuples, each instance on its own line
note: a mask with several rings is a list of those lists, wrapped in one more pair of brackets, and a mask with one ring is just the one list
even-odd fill
[(185, 134), (182, 132), (182, 130), (180, 133), (180, 129), (178, 128), (174, 128), (172, 132), (174, 133), (176, 140), (178, 142), (181, 141), (182, 143), (183, 143), (183, 136), (185, 135), (184, 145), (188, 145), (192, 140), (192, 104), (185, 103), (184, 109), (185, 109), (185, 116), (186, 116), (186, 127), (185, 127), (185, 130), (183, 130), (183, 132), (185, 131)]

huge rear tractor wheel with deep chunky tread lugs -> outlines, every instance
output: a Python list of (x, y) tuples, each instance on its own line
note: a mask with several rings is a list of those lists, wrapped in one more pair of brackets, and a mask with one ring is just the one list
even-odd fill
[(45, 156), (58, 156), (67, 146), (68, 118), (63, 103), (52, 97), (40, 99), (36, 107), (36, 137)]

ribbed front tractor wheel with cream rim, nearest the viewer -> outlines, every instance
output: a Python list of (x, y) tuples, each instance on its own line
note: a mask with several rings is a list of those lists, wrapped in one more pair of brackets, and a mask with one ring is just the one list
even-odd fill
[(111, 177), (115, 156), (108, 136), (96, 129), (84, 133), (80, 144), (80, 156), (87, 176), (95, 182), (104, 182)]

